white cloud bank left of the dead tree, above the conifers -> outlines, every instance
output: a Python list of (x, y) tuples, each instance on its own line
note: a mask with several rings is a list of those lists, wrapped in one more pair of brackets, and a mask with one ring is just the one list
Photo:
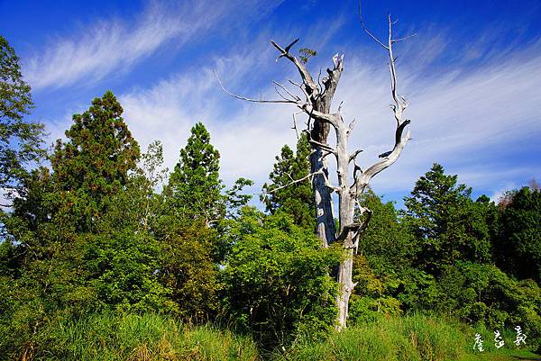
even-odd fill
[[(328, 41), (341, 23), (340, 19), (327, 23), (326, 39), (319, 40)], [(284, 32), (274, 36), (290, 38)], [(293, 108), (234, 99), (221, 90), (215, 71), (234, 92), (276, 98), (272, 87), (267, 87), (270, 82), (261, 89), (254, 84), (271, 78), (277, 70), (283, 70), (281, 76), (296, 77), (296, 73), (286, 61), (274, 61), (276, 50), (269, 39), (270, 33), (261, 32), (247, 43), (234, 45), (225, 56), (209, 59), (204, 67), (187, 69), (149, 89), (133, 89), (121, 95), (126, 122), (136, 139), (143, 146), (151, 140), (162, 140), (166, 165), (171, 168), (179, 158), (179, 149), (186, 144), (191, 126), (204, 122), (220, 151), (225, 182), (231, 184), (243, 176), (258, 183), (254, 189), (261, 188), (280, 148), (296, 142), (295, 132), (289, 129)], [(317, 39), (317, 33), (311, 32), (303, 41)]]

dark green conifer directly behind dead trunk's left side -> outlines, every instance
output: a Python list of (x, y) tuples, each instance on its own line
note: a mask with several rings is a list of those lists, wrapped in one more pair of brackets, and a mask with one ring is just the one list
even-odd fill
[(313, 229), (316, 225), (316, 208), (311, 182), (306, 179), (291, 185), (293, 181), (310, 174), (309, 155), (310, 144), (304, 133), (298, 139), (295, 153), (288, 145), (283, 146), (269, 175), (271, 183), (263, 185), (261, 201), (268, 212), (285, 212), (299, 226)]

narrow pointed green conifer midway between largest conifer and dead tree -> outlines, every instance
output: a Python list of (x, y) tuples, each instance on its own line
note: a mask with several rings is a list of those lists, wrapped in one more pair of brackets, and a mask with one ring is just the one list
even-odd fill
[(202, 220), (207, 226), (225, 217), (221, 194), (220, 153), (210, 144), (201, 122), (191, 129), (188, 145), (180, 149), (179, 163), (164, 189), (165, 201), (176, 216)]

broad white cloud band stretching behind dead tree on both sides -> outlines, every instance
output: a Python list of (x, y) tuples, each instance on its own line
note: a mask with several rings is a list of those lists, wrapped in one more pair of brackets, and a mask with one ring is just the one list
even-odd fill
[[(256, 40), (259, 45), (243, 44), (245, 50), (232, 47), (230, 54), (209, 59), (208, 64), (197, 66), (197, 71), (189, 69), (151, 88), (121, 95), (125, 119), (136, 139), (143, 145), (163, 140), (166, 163), (172, 167), (190, 127), (202, 121), (221, 152), (225, 180), (230, 183), (247, 176), (257, 182), (256, 189), (260, 188), (280, 147), (295, 143), (295, 132), (289, 130), (293, 110), (279, 104), (245, 104), (226, 96), (213, 69), (217, 68), (232, 89), (253, 95), (253, 84), (261, 84), (261, 80), (271, 84), (269, 68), (275, 65), (275, 54), (267, 39), (263, 34)], [(445, 36), (432, 41), (436, 47), (433, 54), (426, 50), (421, 55), (436, 59), (446, 49)], [(408, 54), (411, 58), (415, 52)], [(362, 59), (366, 58), (363, 55)], [(368, 165), (392, 146), (388, 69), (384, 61), (362, 62), (354, 54), (346, 53), (345, 59), (335, 99), (344, 100), (346, 120), (357, 118), (352, 149), (364, 149), (362, 159)], [(407, 116), (412, 119), (413, 140), (399, 161), (374, 179), (374, 189), (380, 193), (407, 192), (435, 161), (449, 165), (447, 169), (459, 174), (460, 182), (494, 194), (516, 185), (518, 177), (539, 176), (540, 169), (524, 164), (500, 167), (502, 148), (519, 144), (526, 136), (541, 136), (536, 110), (541, 104), (538, 45), (507, 52), (505, 57), (483, 59), (478, 68), (466, 67), (466, 59), (454, 67), (435, 70), (430, 67), (433, 59), (399, 63), (399, 91), (411, 104)], [(316, 59), (314, 65), (322, 60)], [(287, 62), (279, 65), (286, 76), (294, 74)], [(261, 90), (263, 96), (271, 96), (271, 86)]]

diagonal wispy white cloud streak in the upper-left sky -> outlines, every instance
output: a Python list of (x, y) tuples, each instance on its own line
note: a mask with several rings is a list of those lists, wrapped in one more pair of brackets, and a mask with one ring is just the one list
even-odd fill
[[(273, 9), (279, 1), (265, 2)], [(260, 0), (248, 2), (183, 1), (153, 2), (134, 21), (103, 19), (81, 26), (73, 36), (51, 40), (45, 50), (25, 64), (25, 75), (34, 90), (73, 85), (80, 79), (97, 81), (126, 72), (174, 39), (179, 50), (209, 31), (221, 28), (225, 17), (259, 18)]]

